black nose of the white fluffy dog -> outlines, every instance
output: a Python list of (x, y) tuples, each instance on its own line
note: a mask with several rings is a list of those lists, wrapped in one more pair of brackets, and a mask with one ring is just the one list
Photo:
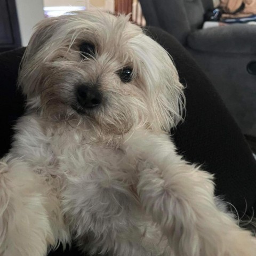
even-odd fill
[(86, 85), (77, 87), (77, 101), (83, 108), (94, 108), (102, 102), (102, 93)]

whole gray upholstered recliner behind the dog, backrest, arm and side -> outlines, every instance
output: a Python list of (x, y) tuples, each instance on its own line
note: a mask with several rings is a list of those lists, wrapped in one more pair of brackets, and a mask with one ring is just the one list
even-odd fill
[(213, 7), (212, 0), (140, 2), (147, 25), (163, 28), (187, 47), (242, 132), (256, 137), (256, 76), (246, 71), (247, 64), (256, 60), (256, 26), (200, 29), (204, 12)]

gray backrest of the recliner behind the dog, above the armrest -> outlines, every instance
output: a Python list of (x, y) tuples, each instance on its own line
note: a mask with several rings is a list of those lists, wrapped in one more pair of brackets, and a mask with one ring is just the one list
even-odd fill
[(160, 27), (182, 44), (191, 30), (200, 28), (212, 0), (140, 0), (148, 26)]

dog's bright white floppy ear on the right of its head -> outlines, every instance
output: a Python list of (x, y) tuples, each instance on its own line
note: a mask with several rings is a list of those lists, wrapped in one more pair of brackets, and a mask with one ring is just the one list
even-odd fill
[(140, 59), (138, 72), (149, 98), (150, 125), (155, 130), (170, 132), (182, 119), (183, 85), (169, 53), (147, 35), (139, 41), (134, 51)]

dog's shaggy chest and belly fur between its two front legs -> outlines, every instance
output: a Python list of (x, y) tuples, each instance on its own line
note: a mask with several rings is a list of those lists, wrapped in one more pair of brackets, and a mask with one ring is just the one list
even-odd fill
[(103, 223), (111, 226), (117, 218), (121, 229), (137, 223), (137, 159), (119, 148), (93, 145), (81, 130), (42, 127), (34, 116), (22, 117), (18, 128), (12, 154), (25, 155), (35, 172), (58, 185), (67, 220), (71, 227), (79, 227), (73, 230), (76, 234), (100, 232), (107, 228)]

